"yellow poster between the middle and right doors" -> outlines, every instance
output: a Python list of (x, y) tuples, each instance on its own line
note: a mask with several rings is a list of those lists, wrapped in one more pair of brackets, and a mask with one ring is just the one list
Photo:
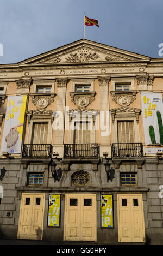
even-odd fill
[(101, 228), (114, 228), (112, 195), (101, 195)]

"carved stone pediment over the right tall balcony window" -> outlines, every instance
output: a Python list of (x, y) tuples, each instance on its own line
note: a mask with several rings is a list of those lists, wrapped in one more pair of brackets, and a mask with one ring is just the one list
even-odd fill
[(112, 123), (114, 124), (115, 118), (117, 117), (135, 117), (137, 123), (139, 123), (139, 115), (141, 113), (140, 109), (137, 108), (129, 108), (122, 106), (121, 108), (118, 109), (112, 109), (111, 111), (111, 118), (112, 118)]

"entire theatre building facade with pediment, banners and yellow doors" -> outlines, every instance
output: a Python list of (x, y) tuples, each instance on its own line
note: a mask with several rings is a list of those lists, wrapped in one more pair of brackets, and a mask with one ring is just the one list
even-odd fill
[(0, 239), (163, 242), (163, 58), (81, 39), (0, 65)]

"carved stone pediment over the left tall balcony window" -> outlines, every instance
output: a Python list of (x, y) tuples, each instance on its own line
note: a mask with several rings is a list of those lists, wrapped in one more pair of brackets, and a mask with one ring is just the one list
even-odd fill
[(51, 123), (53, 123), (53, 112), (52, 110), (47, 109), (36, 109), (36, 110), (29, 110), (26, 112), (28, 125), (30, 124), (31, 120), (47, 120), (50, 119)]

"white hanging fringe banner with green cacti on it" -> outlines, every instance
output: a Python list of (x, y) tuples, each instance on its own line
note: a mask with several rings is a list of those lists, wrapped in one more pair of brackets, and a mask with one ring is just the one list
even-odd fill
[(147, 154), (163, 151), (163, 103), (161, 93), (141, 93), (143, 126)]

